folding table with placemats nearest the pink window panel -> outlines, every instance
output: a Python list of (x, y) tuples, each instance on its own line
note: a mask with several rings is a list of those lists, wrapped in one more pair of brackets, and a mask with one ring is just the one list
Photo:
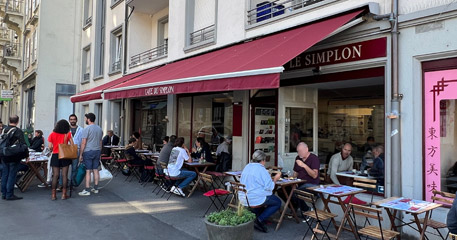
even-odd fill
[[(417, 225), (417, 231), (420, 233), (420, 239), (424, 239), (425, 237), (425, 230), (427, 228), (427, 222), (430, 215), (430, 212), (438, 207), (441, 207), (442, 204), (439, 203), (432, 203), (422, 200), (414, 200), (411, 198), (404, 198), (404, 197), (390, 197), (383, 199), (378, 202), (374, 202), (373, 205), (377, 207), (382, 207), (386, 210), (387, 215), (390, 219), (391, 229), (397, 231), (397, 227), (408, 225), (411, 227), (411, 224)], [(399, 212), (406, 212), (411, 214), (414, 217), (414, 220), (411, 222), (405, 223), (402, 219), (397, 217), (397, 213)], [(420, 222), (419, 214), (425, 213), (424, 221)], [(395, 225), (395, 219), (399, 219), (403, 224)], [(422, 226), (421, 226), (422, 225)], [(413, 228), (413, 227), (411, 227)], [(415, 229), (415, 228), (413, 228)]]

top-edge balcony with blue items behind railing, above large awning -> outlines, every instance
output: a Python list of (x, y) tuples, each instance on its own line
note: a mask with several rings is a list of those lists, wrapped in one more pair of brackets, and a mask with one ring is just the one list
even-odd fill
[(283, 16), (321, 6), (328, 1), (329, 0), (276, 0), (271, 2), (259, 2), (251, 0), (251, 4), (254, 8), (247, 11), (248, 26), (275, 21)]

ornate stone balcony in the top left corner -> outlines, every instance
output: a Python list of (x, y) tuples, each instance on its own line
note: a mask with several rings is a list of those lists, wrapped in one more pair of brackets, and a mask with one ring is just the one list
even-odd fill
[(23, 27), (24, 20), (24, 11), (23, 1), (18, 0), (2, 0), (2, 3), (5, 3), (4, 7), (0, 5), (0, 16), (3, 17), (3, 22), (8, 26), (9, 29), (12, 29), (20, 35)]

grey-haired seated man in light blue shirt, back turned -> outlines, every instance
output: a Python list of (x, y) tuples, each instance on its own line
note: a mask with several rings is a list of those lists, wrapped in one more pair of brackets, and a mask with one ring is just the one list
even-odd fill
[(240, 180), (241, 184), (246, 186), (247, 196), (245, 196), (244, 192), (238, 193), (238, 198), (244, 206), (262, 207), (254, 208), (257, 215), (254, 226), (262, 232), (268, 232), (264, 223), (265, 220), (281, 207), (281, 199), (273, 195), (275, 183), (281, 177), (281, 173), (277, 173), (272, 180), (265, 169), (265, 159), (266, 155), (261, 150), (257, 150), (252, 154), (251, 163), (243, 169)]

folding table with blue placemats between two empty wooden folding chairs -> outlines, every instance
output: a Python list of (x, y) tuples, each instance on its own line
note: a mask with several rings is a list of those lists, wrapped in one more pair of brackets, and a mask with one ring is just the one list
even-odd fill
[[(310, 187), (308, 190), (314, 191), (319, 193), (322, 201), (324, 202), (324, 209), (327, 210), (327, 212), (331, 213), (330, 208), (328, 207), (329, 203), (334, 203), (337, 205), (340, 205), (341, 209), (344, 212), (344, 216), (346, 216), (347, 211), (349, 210), (348, 207), (346, 207), (346, 204), (343, 202), (342, 198), (343, 197), (349, 197), (349, 202), (352, 202), (352, 198), (354, 195), (358, 193), (363, 193), (366, 192), (366, 190), (361, 189), (361, 188), (355, 188), (355, 187), (350, 187), (350, 186), (345, 186), (345, 185), (337, 185), (337, 184), (329, 184), (329, 185), (320, 185), (320, 186), (315, 186), (315, 187)], [(327, 194), (327, 197), (324, 196), (324, 194)], [(331, 200), (330, 198), (336, 198), (338, 201)], [(342, 223), (344, 223), (345, 219), (341, 220)], [(349, 223), (349, 226), (351, 226), (351, 229), (349, 231), (352, 231), (354, 233), (354, 236), (356, 239), (358, 239), (357, 236), (357, 231), (354, 227), (354, 223), (352, 222), (351, 218), (346, 219)], [(335, 226), (336, 230), (338, 231), (336, 234), (336, 238), (339, 237), (341, 230), (343, 229), (343, 225), (341, 224), (339, 227), (337, 227), (336, 221), (334, 218), (332, 218), (332, 223)], [(345, 228), (345, 230), (348, 230)]]

